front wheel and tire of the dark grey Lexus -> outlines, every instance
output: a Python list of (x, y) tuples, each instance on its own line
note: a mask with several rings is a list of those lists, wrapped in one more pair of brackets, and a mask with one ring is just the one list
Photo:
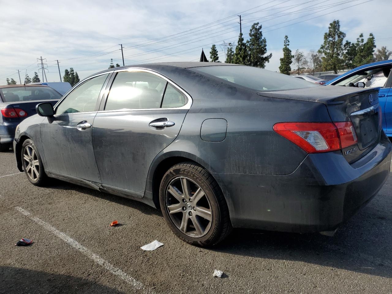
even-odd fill
[(23, 170), (27, 176), (27, 180), (33, 185), (43, 186), (47, 181), (47, 175), (42, 165), (41, 156), (34, 142), (27, 139), (23, 142), (22, 151)]

